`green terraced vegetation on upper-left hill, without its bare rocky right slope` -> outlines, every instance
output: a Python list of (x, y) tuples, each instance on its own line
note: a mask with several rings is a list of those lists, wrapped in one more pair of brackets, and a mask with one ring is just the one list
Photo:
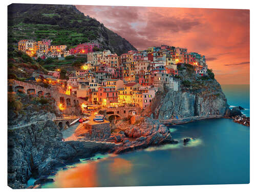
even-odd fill
[[(52, 39), (53, 45), (77, 45), (98, 38), (96, 19), (86, 17), (74, 7), (56, 5), (23, 5), (26, 11), (8, 14), (9, 42), (30, 37)], [(15, 9), (15, 5), (12, 5)], [(23, 29), (20, 31), (19, 29)]]

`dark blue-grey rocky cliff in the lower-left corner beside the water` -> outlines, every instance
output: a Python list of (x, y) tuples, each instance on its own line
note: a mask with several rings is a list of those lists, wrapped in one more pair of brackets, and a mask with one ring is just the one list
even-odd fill
[(61, 139), (52, 121), (8, 130), (8, 185), (24, 188), (32, 175), (50, 174), (74, 157), (74, 148)]

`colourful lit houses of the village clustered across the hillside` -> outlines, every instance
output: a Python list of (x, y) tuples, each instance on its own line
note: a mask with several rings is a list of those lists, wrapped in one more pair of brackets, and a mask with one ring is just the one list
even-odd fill
[[(165, 84), (178, 91), (178, 69), (191, 65), (198, 76), (207, 75), (205, 56), (188, 52), (186, 48), (162, 45), (141, 51), (129, 51), (118, 56), (110, 50), (94, 51), (100, 45), (84, 43), (67, 50), (66, 45), (53, 46), (50, 39), (20, 40), (18, 49), (37, 59), (75, 56), (84, 57), (80, 69), (68, 71), (60, 79), (60, 69), (47, 75), (34, 73), (35, 81), (47, 81), (62, 86), (68, 95), (86, 99), (91, 104), (120, 106), (129, 104), (140, 109), (150, 105), (158, 89)], [(59, 103), (63, 108), (67, 103)]]

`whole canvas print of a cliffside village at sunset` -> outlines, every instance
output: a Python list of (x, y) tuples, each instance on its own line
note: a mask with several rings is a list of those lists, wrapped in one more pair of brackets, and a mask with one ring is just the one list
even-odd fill
[(249, 15), (9, 5), (8, 185), (249, 183)]

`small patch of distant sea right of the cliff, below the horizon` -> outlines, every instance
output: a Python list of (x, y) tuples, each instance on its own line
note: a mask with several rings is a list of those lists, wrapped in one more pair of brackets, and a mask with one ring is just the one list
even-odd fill
[(234, 85), (226, 84), (221, 86), (224, 94), (226, 95), (227, 102), (230, 105), (230, 109), (233, 106), (242, 106), (245, 110), (242, 110), (242, 114), (246, 117), (250, 117), (250, 85)]

